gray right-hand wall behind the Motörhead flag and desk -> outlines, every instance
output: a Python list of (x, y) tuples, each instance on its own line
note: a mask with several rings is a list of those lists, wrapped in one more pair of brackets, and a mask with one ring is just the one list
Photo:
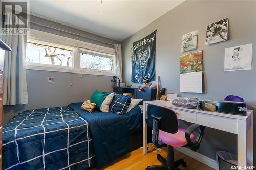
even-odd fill
[[(252, 43), (253, 61), (255, 60), (255, 6), (255, 1), (188, 0), (183, 2), (122, 41), (123, 81), (127, 84), (133, 84), (131, 83), (130, 53), (132, 43), (157, 30), (156, 75), (160, 76), (161, 85), (167, 88), (168, 92), (214, 100), (224, 99), (229, 94), (238, 95), (243, 97), (245, 102), (248, 102), (250, 109), (255, 110), (255, 62), (253, 62), (252, 70), (224, 72), (225, 48)], [(206, 26), (226, 17), (229, 18), (229, 40), (205, 45)], [(186, 52), (180, 52), (181, 37), (183, 34), (194, 30), (198, 30), (198, 48), (194, 51), (204, 51), (204, 94), (179, 92), (180, 55), (186, 54)], [(139, 84), (133, 85), (137, 87)], [(256, 136), (256, 130), (254, 130), (254, 136)], [(198, 152), (215, 159), (217, 150), (222, 149), (237, 153), (236, 146), (236, 135), (206, 128), (204, 140)], [(254, 149), (254, 153), (255, 151)]]

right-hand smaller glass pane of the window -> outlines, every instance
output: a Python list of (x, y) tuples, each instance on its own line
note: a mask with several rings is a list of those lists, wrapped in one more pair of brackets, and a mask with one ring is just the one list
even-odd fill
[(114, 56), (80, 53), (80, 68), (114, 71)]

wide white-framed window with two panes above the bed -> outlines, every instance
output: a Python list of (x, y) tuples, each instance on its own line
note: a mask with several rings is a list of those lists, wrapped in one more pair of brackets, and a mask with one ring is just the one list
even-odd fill
[(30, 29), (26, 68), (114, 76), (114, 54), (113, 48)]

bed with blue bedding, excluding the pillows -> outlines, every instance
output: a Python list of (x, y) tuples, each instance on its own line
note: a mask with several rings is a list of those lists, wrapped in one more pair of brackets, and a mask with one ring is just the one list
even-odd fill
[(142, 145), (139, 106), (125, 115), (82, 103), (19, 113), (3, 127), (2, 169), (101, 168)]

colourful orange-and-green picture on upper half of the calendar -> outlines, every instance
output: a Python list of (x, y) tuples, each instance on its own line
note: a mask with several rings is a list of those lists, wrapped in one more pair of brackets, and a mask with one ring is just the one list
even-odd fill
[(180, 73), (203, 71), (203, 51), (180, 56)]

